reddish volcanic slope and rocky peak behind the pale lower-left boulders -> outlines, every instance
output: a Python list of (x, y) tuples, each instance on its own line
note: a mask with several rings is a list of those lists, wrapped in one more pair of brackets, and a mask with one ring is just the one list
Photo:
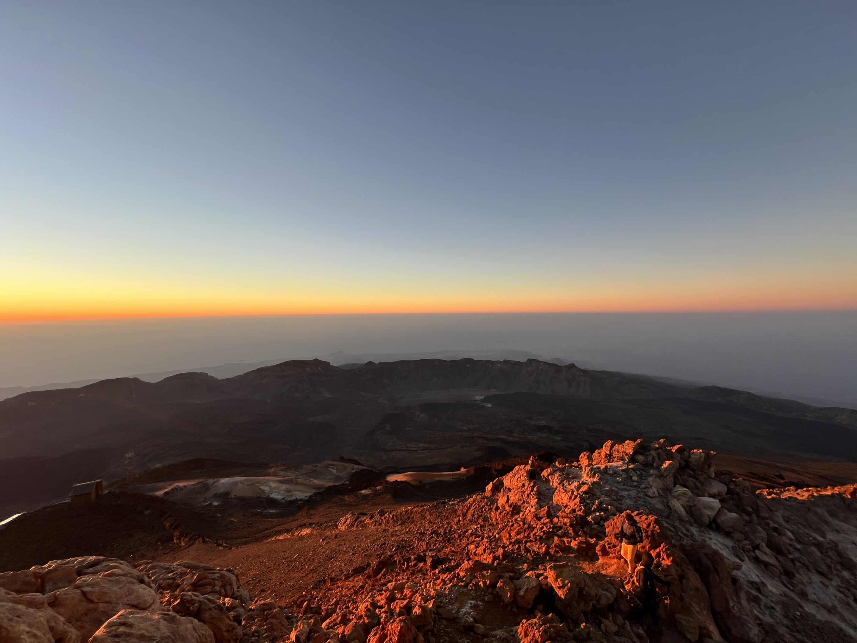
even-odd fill
[[(847, 473), (629, 440), (455, 482), (352, 480), (268, 514), (111, 492), (0, 532), (0, 569), (43, 564), (0, 574), (0, 611), (62, 616), (81, 640), (153, 640), (156, 621), (218, 643), (857, 640), (855, 485), (758, 489)], [(650, 594), (620, 558), (630, 514), (663, 585)]]

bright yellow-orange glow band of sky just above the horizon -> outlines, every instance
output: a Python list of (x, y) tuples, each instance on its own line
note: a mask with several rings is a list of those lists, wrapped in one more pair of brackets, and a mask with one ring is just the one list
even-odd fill
[[(0, 323), (273, 315), (489, 313), (716, 313), (857, 309), (857, 274), (826, 279), (797, 273), (728, 279), (625, 278), (566, 285), (547, 280), (502, 283), (315, 283), (242, 287), (47, 279), (0, 285)], [(409, 287), (411, 286), (411, 287)]]

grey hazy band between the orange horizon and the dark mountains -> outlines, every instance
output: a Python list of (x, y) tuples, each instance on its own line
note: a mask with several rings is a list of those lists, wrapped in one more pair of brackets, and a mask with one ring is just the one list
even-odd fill
[(351, 314), (0, 324), (0, 387), (333, 352), (525, 350), (857, 403), (857, 311)]

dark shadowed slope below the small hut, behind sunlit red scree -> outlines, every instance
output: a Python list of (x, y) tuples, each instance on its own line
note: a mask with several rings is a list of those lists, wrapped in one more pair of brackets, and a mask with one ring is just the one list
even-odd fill
[(13, 520), (0, 531), (0, 569), (26, 569), (51, 559), (93, 553), (131, 562), (188, 559), (189, 545), (200, 538), (206, 544), (196, 547), (212, 550), (209, 558), (231, 556), (228, 547), (266, 547), (267, 538), (296, 528), (335, 524), (350, 511), (389, 510), (439, 497), (462, 496), (482, 486), (482, 478), (419, 487), (381, 482), (370, 492), (319, 494), (303, 505), (274, 510), (275, 517), (244, 514), (241, 507), (187, 508), (159, 496), (111, 492), (94, 505), (64, 502)]

